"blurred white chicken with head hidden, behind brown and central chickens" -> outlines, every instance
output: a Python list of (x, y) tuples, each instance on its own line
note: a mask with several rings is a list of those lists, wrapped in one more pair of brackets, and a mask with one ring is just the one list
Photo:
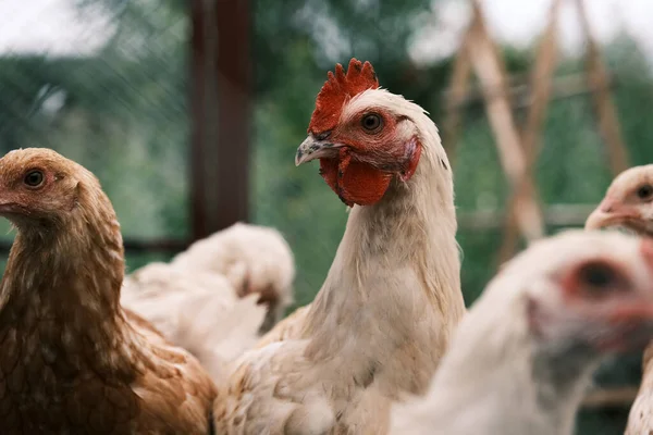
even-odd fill
[(236, 223), (170, 263), (125, 277), (121, 303), (192, 351), (218, 378), (293, 301), (295, 266), (273, 228)]

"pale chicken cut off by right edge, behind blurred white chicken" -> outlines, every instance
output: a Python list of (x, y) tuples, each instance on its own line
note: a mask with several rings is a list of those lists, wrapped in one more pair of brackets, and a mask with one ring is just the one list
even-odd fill
[[(653, 236), (653, 164), (631, 167), (617, 176), (586, 228), (621, 227)], [(642, 383), (628, 417), (627, 435), (653, 431), (653, 341), (642, 361)]]

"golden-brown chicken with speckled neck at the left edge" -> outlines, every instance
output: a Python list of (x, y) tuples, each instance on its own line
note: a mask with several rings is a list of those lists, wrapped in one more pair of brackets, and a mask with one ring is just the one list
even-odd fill
[(17, 229), (0, 290), (0, 432), (208, 434), (199, 363), (121, 309), (120, 224), (98, 179), (48, 149), (0, 159)]

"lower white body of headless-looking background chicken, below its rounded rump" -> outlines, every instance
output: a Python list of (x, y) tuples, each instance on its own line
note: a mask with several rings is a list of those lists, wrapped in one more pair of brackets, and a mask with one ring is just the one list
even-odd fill
[(215, 380), (254, 347), (266, 316), (258, 295), (239, 297), (222, 275), (167, 263), (150, 263), (126, 276), (121, 304), (190, 351)]

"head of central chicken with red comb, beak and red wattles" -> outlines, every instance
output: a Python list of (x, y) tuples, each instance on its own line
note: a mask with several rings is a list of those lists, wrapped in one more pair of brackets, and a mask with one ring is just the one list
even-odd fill
[(320, 159), (320, 174), (347, 206), (378, 202), (393, 178), (407, 182), (417, 169), (421, 140), (415, 125), (394, 110), (378, 89), (369, 62), (352, 59), (317, 97), (308, 137), (297, 149), (297, 165)]

